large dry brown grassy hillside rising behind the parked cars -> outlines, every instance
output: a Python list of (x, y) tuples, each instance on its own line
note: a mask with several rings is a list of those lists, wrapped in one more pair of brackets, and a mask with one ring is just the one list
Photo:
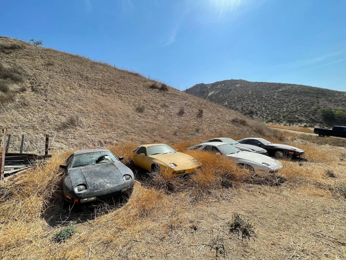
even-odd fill
[(36, 143), (46, 132), (52, 148), (65, 149), (266, 131), (137, 73), (6, 37), (0, 38), (0, 102), (0, 128), (30, 134), (29, 150), (43, 147)]

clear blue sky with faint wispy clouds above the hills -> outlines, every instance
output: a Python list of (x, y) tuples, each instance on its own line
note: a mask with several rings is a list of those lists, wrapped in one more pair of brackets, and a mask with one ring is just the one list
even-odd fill
[(344, 0), (1, 0), (0, 35), (150, 75), (346, 91)]

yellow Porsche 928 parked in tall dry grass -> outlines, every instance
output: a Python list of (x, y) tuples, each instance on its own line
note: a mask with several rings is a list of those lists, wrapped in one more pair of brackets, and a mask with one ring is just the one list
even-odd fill
[(166, 177), (193, 173), (201, 163), (162, 143), (138, 146), (133, 150), (134, 164), (148, 171), (161, 171)]

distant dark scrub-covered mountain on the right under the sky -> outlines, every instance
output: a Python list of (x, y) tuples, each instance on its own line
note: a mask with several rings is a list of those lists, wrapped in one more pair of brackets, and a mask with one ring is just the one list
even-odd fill
[(326, 124), (319, 108), (346, 111), (346, 92), (304, 85), (224, 80), (194, 85), (188, 93), (266, 122)]

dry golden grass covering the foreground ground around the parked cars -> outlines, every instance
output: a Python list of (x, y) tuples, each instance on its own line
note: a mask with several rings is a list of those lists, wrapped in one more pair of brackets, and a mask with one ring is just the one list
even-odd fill
[[(185, 151), (189, 145), (182, 142), (174, 147), (202, 162), (203, 167), (196, 174), (187, 179), (161, 179), (161, 184), (166, 185), (161, 187), (142, 178), (142, 184), (136, 182), (127, 204), (101, 204), (94, 212), (82, 213), (62, 208), (58, 165), (73, 150), (55, 153), (46, 165), (0, 187), (0, 258), (215, 259), (218, 245), (225, 247), (230, 258), (236, 258), (231, 252), (244, 259), (285, 259), (296, 254), (319, 257), (319, 251), (326, 250), (333, 256), (342, 256), (341, 244), (329, 246), (333, 242), (327, 240), (328, 236), (316, 233), (322, 230), (342, 242), (343, 237), (326, 230), (325, 225), (334, 223), (335, 231), (345, 231), (343, 202), (328, 189), (314, 184), (334, 185), (318, 164), (303, 162), (300, 166), (297, 161), (283, 161), (281, 174), (288, 179), (287, 184), (276, 188), (247, 185), (242, 182), (248, 171), (220, 156)], [(135, 146), (124, 143), (109, 148), (117, 156), (125, 155), (124, 161), (129, 163), (130, 150)], [(234, 187), (223, 187), (222, 178), (229, 178)], [(167, 184), (171, 186), (167, 188)], [(329, 214), (323, 215), (327, 209)], [(304, 217), (309, 211), (314, 214)], [(228, 234), (227, 222), (234, 212), (254, 223), (256, 241), (243, 243)], [(76, 233), (71, 238), (62, 243), (53, 241), (56, 232), (72, 224)], [(296, 230), (318, 236), (304, 242)], [(282, 234), (281, 238), (277, 233)], [(307, 233), (301, 235), (306, 237)], [(270, 247), (266, 246), (273, 241)], [(297, 251), (295, 245), (299, 243), (307, 246)]]

